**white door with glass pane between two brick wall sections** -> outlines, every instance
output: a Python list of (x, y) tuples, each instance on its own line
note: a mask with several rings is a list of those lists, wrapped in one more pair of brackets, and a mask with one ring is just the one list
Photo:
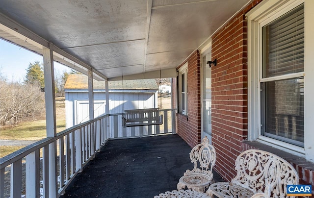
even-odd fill
[(211, 50), (202, 53), (202, 139), (207, 136), (211, 143), (211, 68), (207, 61), (211, 59)]

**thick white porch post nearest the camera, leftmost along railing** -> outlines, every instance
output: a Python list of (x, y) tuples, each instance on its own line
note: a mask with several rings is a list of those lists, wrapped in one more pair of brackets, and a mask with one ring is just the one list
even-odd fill
[[(45, 102), (46, 102), (46, 127), (47, 137), (56, 136), (55, 98), (54, 98), (54, 72), (53, 72), (53, 45), (43, 49)], [(56, 143), (49, 145), (49, 196), (57, 197), (57, 170), (56, 170)], [(44, 182), (48, 182), (45, 181)], [(45, 189), (48, 190), (48, 189)]]

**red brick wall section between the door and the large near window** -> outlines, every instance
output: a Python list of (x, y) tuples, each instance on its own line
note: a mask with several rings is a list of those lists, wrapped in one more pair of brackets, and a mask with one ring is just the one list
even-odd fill
[[(258, 0), (261, 1), (261, 0)], [(252, 2), (212, 36), (212, 144), (217, 150), (216, 171), (226, 180), (235, 177), (235, 159), (247, 138), (247, 22)]]

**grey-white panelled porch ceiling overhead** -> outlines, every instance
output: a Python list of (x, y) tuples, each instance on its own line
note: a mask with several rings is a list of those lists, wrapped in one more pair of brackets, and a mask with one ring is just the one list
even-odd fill
[[(113, 79), (176, 68), (250, 1), (1, 0), (0, 23), (30, 36), (25, 27)], [(42, 53), (3, 25), (1, 38)]]

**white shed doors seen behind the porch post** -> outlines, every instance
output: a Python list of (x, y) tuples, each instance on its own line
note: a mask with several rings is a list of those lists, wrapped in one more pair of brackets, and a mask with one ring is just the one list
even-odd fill
[[(76, 100), (75, 124), (89, 121), (88, 100)], [(94, 117), (97, 118), (105, 114), (105, 100), (94, 101)]]

